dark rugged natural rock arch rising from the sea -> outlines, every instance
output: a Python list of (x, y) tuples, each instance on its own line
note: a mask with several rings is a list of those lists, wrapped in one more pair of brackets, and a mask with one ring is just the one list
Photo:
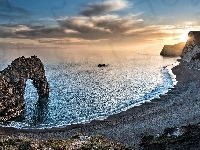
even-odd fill
[(15, 59), (0, 71), (0, 122), (3, 123), (24, 111), (27, 79), (33, 80), (39, 99), (48, 98), (49, 87), (44, 66), (37, 56)]

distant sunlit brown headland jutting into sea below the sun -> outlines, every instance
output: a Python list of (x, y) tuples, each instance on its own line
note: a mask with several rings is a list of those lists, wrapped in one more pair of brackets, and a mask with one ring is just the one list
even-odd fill
[(165, 57), (180, 56), (183, 51), (184, 46), (185, 46), (185, 42), (181, 42), (175, 45), (164, 45), (162, 51), (160, 52), (160, 55), (165, 56)]

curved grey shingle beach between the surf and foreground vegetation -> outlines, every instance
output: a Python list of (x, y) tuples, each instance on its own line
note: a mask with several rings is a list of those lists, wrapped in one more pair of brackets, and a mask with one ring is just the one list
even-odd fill
[[(180, 61), (180, 60), (179, 60)], [(29, 138), (69, 138), (76, 133), (103, 135), (109, 140), (138, 147), (144, 135), (161, 134), (167, 127), (198, 123), (200, 119), (200, 71), (185, 68), (185, 62), (172, 68), (178, 83), (160, 98), (126, 111), (86, 124), (51, 129), (15, 129), (0, 127), (0, 136)]]

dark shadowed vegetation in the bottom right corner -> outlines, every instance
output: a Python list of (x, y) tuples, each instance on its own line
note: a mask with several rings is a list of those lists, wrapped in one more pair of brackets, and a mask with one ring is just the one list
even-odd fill
[[(176, 133), (179, 133), (177, 135)], [(152, 149), (199, 149), (200, 124), (167, 128), (159, 137), (144, 136), (141, 146), (144, 150)]]

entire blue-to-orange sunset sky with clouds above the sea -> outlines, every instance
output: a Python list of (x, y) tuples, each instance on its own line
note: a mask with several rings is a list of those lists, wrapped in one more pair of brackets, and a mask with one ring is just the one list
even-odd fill
[(200, 0), (0, 0), (1, 49), (151, 53), (200, 30)]

